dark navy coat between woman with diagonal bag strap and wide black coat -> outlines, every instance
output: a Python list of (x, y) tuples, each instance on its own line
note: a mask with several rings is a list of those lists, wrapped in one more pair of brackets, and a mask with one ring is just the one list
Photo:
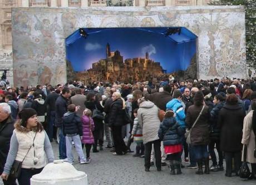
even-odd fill
[(219, 102), (214, 105), (213, 109), (210, 111), (210, 139), (211, 140), (220, 140), (220, 129), (218, 127), (218, 117), (220, 109), (225, 105), (225, 102)]

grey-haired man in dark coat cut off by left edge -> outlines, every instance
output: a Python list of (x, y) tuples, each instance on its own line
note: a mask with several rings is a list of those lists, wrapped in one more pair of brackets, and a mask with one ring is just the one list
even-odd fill
[[(0, 174), (3, 173), (4, 164), (8, 156), (10, 141), (13, 133), (13, 119), (11, 107), (7, 103), (0, 104)], [(16, 184), (16, 179), (3, 180), (4, 184)]]

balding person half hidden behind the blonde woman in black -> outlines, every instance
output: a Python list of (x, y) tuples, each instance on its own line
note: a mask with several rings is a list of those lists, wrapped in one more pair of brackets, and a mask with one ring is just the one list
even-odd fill
[(112, 148), (112, 146), (114, 145), (112, 142), (112, 138), (111, 138), (111, 131), (110, 131), (110, 127), (107, 125), (109, 123), (109, 114), (110, 114), (110, 110), (111, 110), (111, 105), (112, 105), (112, 94), (116, 92), (115, 88), (111, 88), (110, 89), (110, 96), (107, 97), (106, 100), (104, 100), (102, 102), (102, 105), (104, 106), (104, 112), (106, 113), (105, 115), (105, 119), (104, 119), (104, 131), (105, 131), (105, 135), (106, 135), (106, 140), (107, 140), (107, 147), (106, 148)]

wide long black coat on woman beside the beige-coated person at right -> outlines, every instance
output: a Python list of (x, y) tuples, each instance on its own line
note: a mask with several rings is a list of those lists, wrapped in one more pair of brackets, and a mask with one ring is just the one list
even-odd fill
[(219, 112), (220, 149), (224, 152), (242, 150), (243, 121), (245, 112), (238, 104), (226, 104)]

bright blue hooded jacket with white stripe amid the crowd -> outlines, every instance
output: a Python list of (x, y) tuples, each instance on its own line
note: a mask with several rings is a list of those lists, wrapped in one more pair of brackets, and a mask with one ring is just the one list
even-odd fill
[(173, 110), (176, 114), (176, 120), (177, 120), (178, 124), (181, 126), (181, 128), (185, 128), (186, 115), (185, 115), (184, 107), (181, 104), (181, 101), (176, 98), (169, 101), (166, 104), (166, 109)]

